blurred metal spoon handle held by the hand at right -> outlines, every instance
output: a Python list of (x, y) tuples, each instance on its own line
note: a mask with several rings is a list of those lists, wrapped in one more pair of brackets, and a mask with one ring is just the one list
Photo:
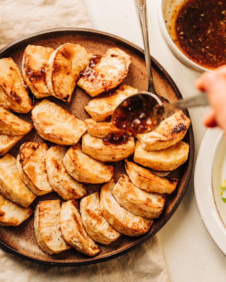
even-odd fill
[(209, 105), (207, 96), (205, 93), (195, 95), (187, 99), (179, 99), (176, 102), (168, 103), (164, 105), (165, 111), (170, 111), (174, 109), (185, 109), (199, 106)]

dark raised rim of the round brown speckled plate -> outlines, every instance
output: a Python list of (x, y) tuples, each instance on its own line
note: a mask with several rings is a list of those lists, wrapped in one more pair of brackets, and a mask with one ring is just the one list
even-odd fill
[[(2, 58), (2, 53), (4, 53), (5, 51), (9, 50), (11, 48), (15, 48), (16, 45), (31, 39), (31, 38), (35, 38), (44, 34), (48, 34), (48, 33), (59, 33), (59, 32), (79, 32), (81, 34), (86, 33), (89, 34), (91, 33), (92, 35), (101, 35), (101, 36), (105, 36), (108, 39), (111, 38), (113, 41), (118, 41), (121, 44), (126, 44), (127, 47), (129, 46), (130, 48), (132, 47), (133, 49), (135, 49), (136, 51), (139, 51), (140, 53), (142, 53), (142, 55), (144, 56), (144, 50), (142, 48), (140, 48), (139, 46), (133, 44), (132, 42), (119, 37), (117, 35), (108, 33), (108, 32), (103, 32), (100, 30), (95, 30), (95, 29), (89, 29), (89, 28), (54, 28), (54, 29), (49, 29), (49, 30), (42, 30), (39, 32), (35, 32), (32, 34), (28, 34), (26, 36), (20, 37), (14, 41), (12, 41), (11, 43), (9, 43), (8, 45), (6, 45), (5, 47), (3, 47), (0, 50), (0, 57)], [(175, 91), (176, 95), (178, 98), (183, 98), (177, 85), (175, 84), (175, 82), (173, 81), (173, 79), (171, 78), (171, 76), (169, 75), (169, 73), (166, 72), (166, 70), (162, 67), (162, 65), (155, 60), (155, 58), (153, 58), (151, 56), (151, 61), (152, 63), (154, 63), (155, 67), (158, 68), (159, 73), (161, 73), (169, 82), (169, 84), (171, 85), (171, 87), (173, 87), (173, 90)], [(153, 67), (153, 66), (152, 66)], [(184, 110), (185, 114), (190, 118), (189, 112), (187, 109)], [(144, 234), (140, 240), (134, 242), (132, 245), (123, 248), (122, 250), (119, 250), (113, 254), (107, 254), (104, 255), (103, 257), (100, 258), (88, 258), (88, 259), (84, 259), (84, 260), (80, 260), (80, 261), (52, 261), (52, 260), (43, 260), (43, 259), (38, 259), (38, 258), (34, 258), (31, 256), (27, 256), (21, 252), (18, 252), (16, 249), (14, 249), (12, 246), (8, 246), (8, 244), (5, 244), (3, 241), (1, 241), (0, 238), (0, 247), (2, 249), (5, 249), (6, 251), (9, 251), (11, 253), (13, 253), (14, 255), (17, 255), (23, 259), (26, 259), (28, 261), (31, 262), (37, 262), (39, 264), (47, 264), (47, 265), (54, 265), (54, 266), (82, 266), (82, 265), (88, 265), (88, 264), (94, 264), (94, 263), (98, 263), (98, 262), (103, 262), (109, 259), (113, 259), (116, 258), (118, 256), (121, 256), (125, 253), (128, 253), (132, 250), (134, 250), (135, 248), (137, 248), (139, 245), (144, 244), (146, 241), (148, 241), (151, 237), (153, 237), (169, 220), (169, 218), (173, 215), (173, 213), (176, 211), (177, 207), (179, 206), (180, 202), (182, 201), (184, 194), (188, 188), (188, 184), (191, 178), (191, 173), (193, 170), (193, 165), (194, 165), (194, 152), (195, 152), (195, 141), (194, 141), (194, 133), (193, 133), (193, 129), (192, 129), (192, 124), (190, 124), (189, 128), (188, 128), (188, 139), (190, 142), (190, 150), (189, 150), (189, 155), (188, 155), (188, 169), (184, 178), (184, 183), (183, 183), (183, 187), (180, 191), (180, 194), (178, 195), (178, 198), (176, 199), (173, 207), (169, 210), (169, 212), (167, 213), (167, 215), (163, 218), (163, 220), (158, 224), (157, 227), (155, 227), (154, 230), (151, 231), (150, 234), (146, 235)]]

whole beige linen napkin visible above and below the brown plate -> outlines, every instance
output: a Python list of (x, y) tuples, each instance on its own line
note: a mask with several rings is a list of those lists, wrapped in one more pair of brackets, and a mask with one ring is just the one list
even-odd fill
[[(0, 16), (0, 49), (41, 30), (92, 28), (82, 0), (0, 0)], [(39, 265), (0, 248), (0, 281), (167, 282), (169, 278), (159, 237), (155, 235), (125, 255), (88, 266)]]

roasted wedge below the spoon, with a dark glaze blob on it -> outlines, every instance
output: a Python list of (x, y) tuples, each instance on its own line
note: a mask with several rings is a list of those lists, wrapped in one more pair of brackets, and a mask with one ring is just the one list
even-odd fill
[(103, 139), (85, 133), (82, 136), (82, 152), (100, 162), (119, 162), (134, 153), (134, 137), (129, 136), (126, 144), (107, 144)]

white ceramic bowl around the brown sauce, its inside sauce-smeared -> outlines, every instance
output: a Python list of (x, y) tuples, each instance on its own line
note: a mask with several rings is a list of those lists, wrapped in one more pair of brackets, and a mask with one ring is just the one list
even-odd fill
[[(159, 0), (158, 3), (158, 19), (159, 19), (159, 27), (162, 33), (162, 37), (168, 46), (169, 50), (173, 53), (173, 55), (185, 66), (199, 71), (204, 72), (208, 69), (199, 66), (191, 59), (189, 59), (177, 45), (174, 43), (176, 39), (176, 35), (173, 33), (174, 30), (174, 21), (175, 19), (175, 10), (178, 10), (180, 6), (185, 2), (185, 0)], [(210, 71), (210, 70), (209, 70)]]

